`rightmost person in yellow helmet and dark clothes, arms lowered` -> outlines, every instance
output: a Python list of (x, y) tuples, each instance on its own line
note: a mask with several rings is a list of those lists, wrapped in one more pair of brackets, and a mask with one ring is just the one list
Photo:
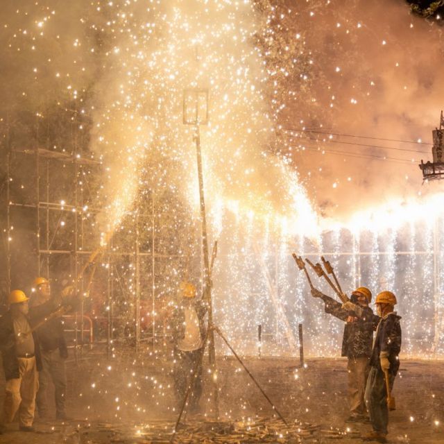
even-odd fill
[(366, 441), (386, 443), (388, 433), (388, 396), (386, 377), (390, 391), (400, 368), (402, 332), (400, 319), (396, 314), (396, 296), (391, 291), (382, 291), (376, 297), (377, 325), (376, 338), (370, 358), (370, 373), (366, 387), (366, 404), (370, 413), (373, 431), (364, 437)]

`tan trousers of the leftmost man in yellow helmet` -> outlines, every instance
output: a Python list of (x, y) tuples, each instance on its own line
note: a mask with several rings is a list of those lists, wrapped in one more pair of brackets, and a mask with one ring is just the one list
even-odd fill
[(34, 420), (35, 395), (39, 388), (35, 357), (17, 358), (19, 377), (6, 381), (3, 423), (12, 422), (19, 411), (19, 425), (31, 427)]

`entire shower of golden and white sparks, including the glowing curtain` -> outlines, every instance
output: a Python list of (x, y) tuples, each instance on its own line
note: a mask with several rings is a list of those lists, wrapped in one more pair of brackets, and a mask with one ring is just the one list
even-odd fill
[[(412, 319), (415, 311), (407, 308), (406, 300), (418, 292), (418, 301), (427, 301), (427, 319), (433, 321), (434, 310), (442, 313), (441, 288), (436, 288), (436, 282), (431, 284), (431, 264), (443, 259), (443, 194), (418, 196), (416, 200), (388, 194), (390, 200), (384, 205), (367, 206), (358, 191), (353, 198), (355, 211), (349, 216), (332, 218), (318, 209), (309, 187), (302, 185), (302, 167), (296, 169), (298, 162), (293, 157), (296, 151), (308, 157), (311, 142), (304, 140), (307, 146), (300, 144), (295, 149), (288, 139), (282, 142), (277, 136), (282, 130), (280, 120), (285, 119), (285, 101), (310, 104), (314, 120), (325, 116), (315, 94), (316, 79), (311, 76), (316, 53), (307, 49), (305, 34), (309, 30), (287, 35), (288, 17), (296, 17), (296, 12), (277, 15), (277, 8), (265, 0), (78, 3), (84, 8), (69, 6), (78, 19), (66, 29), (69, 42), (61, 32), (65, 22), (58, 22), (58, 17), (66, 20), (65, 14), (44, 6), (44, 2), (30, 2), (10, 11), (19, 24), (12, 19), (11, 24), (3, 25), (3, 33), (8, 35), (9, 51), (28, 57), (31, 86), (23, 87), (23, 100), (31, 101), (28, 98), (37, 95), (38, 103), (33, 105), (39, 108), (51, 85), (60, 109), (75, 108), (73, 124), (78, 133), (84, 135), (89, 130), (83, 136), (89, 145), (82, 155), (101, 163), (102, 178), (81, 214), (94, 230), (107, 233), (102, 234), (102, 244), (108, 244), (108, 236), (115, 232), (113, 251), (125, 250), (119, 239), (133, 239), (135, 230), (128, 230), (125, 223), (137, 218), (142, 220), (139, 230), (150, 242), (151, 235), (159, 238), (153, 241), (154, 248), (159, 248), (156, 251), (163, 248), (159, 254), (198, 256), (194, 128), (182, 123), (182, 99), (184, 89), (208, 89), (210, 121), (200, 127), (200, 137), (210, 241), (219, 239), (221, 246), (214, 271), (214, 310), (216, 321), (234, 345), (255, 353), (260, 324), (264, 341), (268, 337), (275, 341), (269, 347), (264, 345), (263, 352), (284, 353), (289, 348), (285, 326), (289, 323), (296, 332), (298, 323), (304, 323), (310, 353), (336, 355), (338, 347), (332, 344), (339, 343), (341, 325), (323, 314), (319, 301), (309, 296), (307, 283), (291, 262), (290, 253), (296, 250), (314, 257), (328, 253), (327, 259), (339, 264), (348, 293), (359, 283), (368, 285), (374, 295), (385, 288), (399, 294), (399, 311), (408, 317), (405, 325), (409, 326), (405, 352), (424, 352), (413, 337), (419, 321)], [(309, 13), (304, 10), (304, 14), (310, 24), (320, 15), (317, 8)], [(338, 25), (338, 40), (357, 39), (367, 28), (361, 21)], [(384, 51), (392, 44), (379, 36), (378, 42)], [(345, 76), (346, 70), (345, 63), (339, 66), (335, 60), (329, 75)], [(296, 87), (288, 88), (287, 78), (292, 82), (298, 79), (297, 91)], [(330, 91), (330, 86), (327, 89)], [(374, 89), (371, 80), (365, 88), (350, 86), (348, 95), (330, 91), (328, 100), (335, 110), (345, 102), (359, 110)], [(50, 103), (44, 105), (49, 107)], [(38, 110), (36, 117), (44, 121), (46, 113)], [(89, 126), (83, 126), (83, 118), (89, 119)], [(300, 121), (300, 126), (305, 124)], [(65, 153), (60, 146), (50, 148)], [(328, 149), (316, 148), (316, 155), (325, 153)], [(308, 178), (314, 180), (315, 171), (322, 177), (322, 167), (307, 171)], [(92, 168), (81, 167), (79, 185), (86, 189), (87, 179), (94, 174)], [(338, 174), (329, 182), (329, 191), (345, 196), (345, 187), (350, 190), (356, 183), (356, 177)], [(309, 180), (304, 184), (309, 185)], [(64, 198), (69, 203), (70, 196)], [(178, 251), (171, 251), (160, 230), (152, 228), (146, 216), (147, 202), (157, 205), (153, 226), (164, 222), (174, 234), (185, 227)], [(99, 214), (94, 207), (101, 208)], [(178, 221), (180, 218), (185, 221)], [(436, 221), (437, 234), (427, 225), (431, 220)], [(411, 239), (406, 247), (407, 253), (411, 252), (407, 272), (397, 253), (406, 224)], [(60, 219), (64, 230), (67, 225)], [(434, 241), (434, 234), (438, 240)], [(438, 259), (433, 257), (436, 242)], [(420, 244), (422, 250), (432, 253), (415, 256), (413, 251)], [(109, 267), (103, 262), (103, 268)], [(171, 298), (176, 293), (183, 268), (183, 264), (168, 268), (170, 274), (155, 282), (155, 298)], [(167, 266), (162, 272), (164, 269)], [(443, 271), (437, 268), (436, 273), (438, 283), (443, 282)], [(114, 266), (110, 275), (126, 279), (124, 305), (135, 307), (139, 282), (135, 264)], [(405, 278), (402, 284), (400, 276)], [(315, 282), (323, 291), (330, 291)], [(146, 294), (151, 296), (151, 292)], [(142, 307), (142, 316), (155, 318), (155, 309)], [(434, 327), (427, 327), (427, 337), (434, 341), (434, 352), (442, 352), (442, 321), (439, 325), (432, 321)]]

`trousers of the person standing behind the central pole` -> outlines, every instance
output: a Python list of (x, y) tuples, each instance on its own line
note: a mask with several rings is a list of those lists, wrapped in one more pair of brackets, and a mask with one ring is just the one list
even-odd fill
[[(173, 368), (174, 386), (176, 389), (176, 401), (178, 408), (182, 407), (187, 388), (192, 381), (193, 371), (197, 361), (200, 359), (202, 348), (192, 352), (184, 352), (176, 349), (175, 363)], [(198, 407), (202, 395), (202, 363), (197, 368), (196, 379), (194, 379), (194, 390), (191, 392), (187, 403), (191, 409)]]

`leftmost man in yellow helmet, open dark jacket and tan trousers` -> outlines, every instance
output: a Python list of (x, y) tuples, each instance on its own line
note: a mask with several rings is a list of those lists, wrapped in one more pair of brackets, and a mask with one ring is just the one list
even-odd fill
[(19, 411), (19, 429), (33, 432), (35, 395), (41, 368), (38, 337), (31, 329), (60, 306), (60, 299), (29, 308), (29, 298), (21, 290), (11, 291), (8, 312), (0, 318), (0, 348), (5, 373), (5, 399), (0, 433)]

